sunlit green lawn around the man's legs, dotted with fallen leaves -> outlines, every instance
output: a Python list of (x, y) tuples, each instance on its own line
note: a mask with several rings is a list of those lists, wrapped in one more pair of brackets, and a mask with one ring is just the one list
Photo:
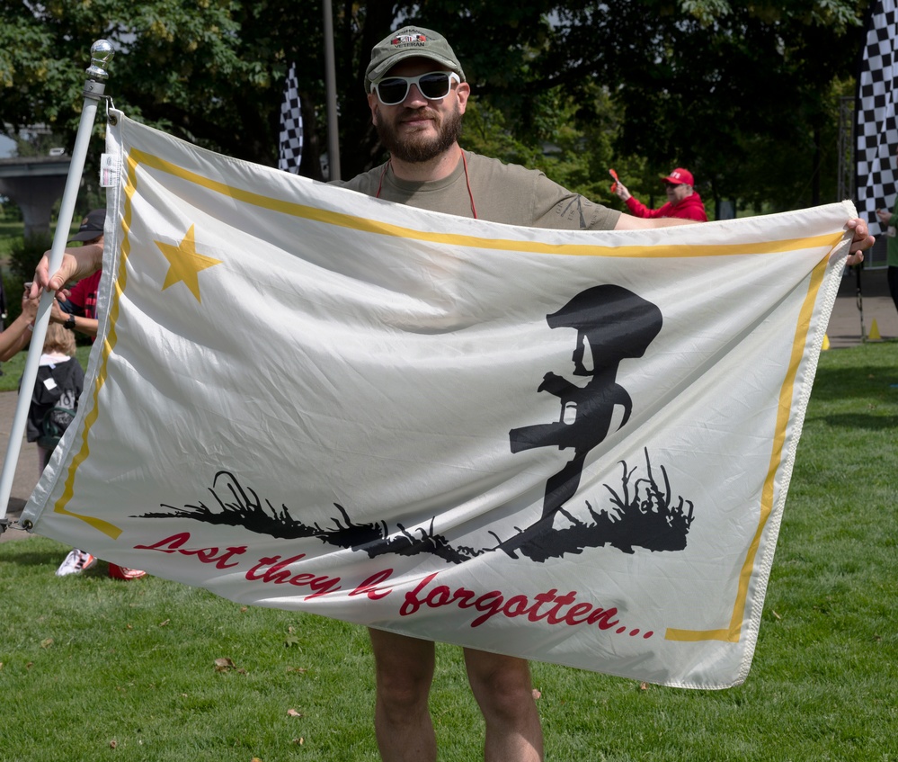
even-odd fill
[[(898, 760), (896, 430), (898, 343), (822, 353), (745, 684), (534, 664), (547, 759)], [(378, 759), (362, 628), (103, 563), (56, 578), (67, 550), (0, 545), (0, 762)], [(431, 712), (440, 759), (482, 758), (458, 649)]]

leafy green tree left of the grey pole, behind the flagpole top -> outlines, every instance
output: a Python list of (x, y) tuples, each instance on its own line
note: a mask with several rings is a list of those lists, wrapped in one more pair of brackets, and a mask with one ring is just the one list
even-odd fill
[[(93, 41), (110, 40), (107, 94), (132, 118), (231, 156), (277, 157), (289, 63), (320, 68), (321, 14), (312, 3), (98, 0), (0, 4), (0, 119), (44, 122), (74, 142)], [(317, 21), (316, 21), (317, 19)], [(323, 72), (306, 81), (323, 101)], [(315, 120), (308, 121), (310, 136)], [(102, 124), (96, 126), (102, 132)]]

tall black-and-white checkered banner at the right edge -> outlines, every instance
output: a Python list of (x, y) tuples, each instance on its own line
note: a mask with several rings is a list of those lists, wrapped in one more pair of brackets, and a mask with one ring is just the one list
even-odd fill
[(895, 161), (898, 160), (898, 0), (877, 0), (867, 26), (858, 76), (857, 187), (858, 213), (879, 232), (877, 209), (895, 204)]

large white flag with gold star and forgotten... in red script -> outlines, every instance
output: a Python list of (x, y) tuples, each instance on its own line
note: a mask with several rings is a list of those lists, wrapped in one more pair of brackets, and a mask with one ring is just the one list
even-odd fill
[(522, 229), (117, 116), (101, 334), (35, 532), (247, 604), (744, 680), (851, 204)]

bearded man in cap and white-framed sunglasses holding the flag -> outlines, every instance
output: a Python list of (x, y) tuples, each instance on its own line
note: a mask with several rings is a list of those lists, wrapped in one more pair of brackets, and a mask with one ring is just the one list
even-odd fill
[[(372, 120), (390, 151), (386, 164), (344, 186), (369, 196), (459, 217), (554, 229), (651, 229), (690, 220), (643, 220), (609, 210), (520, 166), (463, 151), (461, 118), (471, 92), (449, 43), (421, 27), (390, 34), (372, 50), (366, 72)], [(848, 264), (872, 246), (863, 220), (854, 231)], [(67, 251), (58, 273), (39, 265), (33, 291), (58, 291), (102, 265), (102, 247)], [(570, 480), (579, 479), (579, 472)], [(547, 499), (549, 496), (547, 495)], [(518, 549), (520, 551), (520, 549)], [(511, 551), (513, 553), (513, 550)], [(371, 629), (377, 668), (375, 726), (381, 757), (436, 759), (428, 713), (434, 670), (431, 641)], [(542, 731), (524, 659), (467, 648), (466, 666), (486, 722), (485, 759), (543, 758)]]

